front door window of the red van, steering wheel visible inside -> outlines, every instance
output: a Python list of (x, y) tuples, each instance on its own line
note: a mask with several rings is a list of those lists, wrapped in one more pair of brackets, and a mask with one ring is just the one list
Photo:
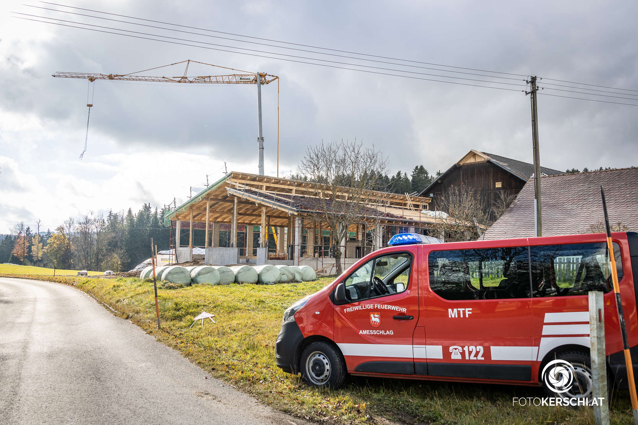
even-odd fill
[(412, 256), (405, 252), (376, 257), (353, 271), (345, 280), (346, 299), (361, 301), (408, 289)]

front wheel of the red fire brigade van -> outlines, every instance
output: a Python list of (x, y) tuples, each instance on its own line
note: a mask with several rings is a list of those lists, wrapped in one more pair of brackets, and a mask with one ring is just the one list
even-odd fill
[(301, 354), (299, 366), (303, 380), (314, 387), (338, 388), (346, 375), (339, 352), (326, 342), (309, 344)]

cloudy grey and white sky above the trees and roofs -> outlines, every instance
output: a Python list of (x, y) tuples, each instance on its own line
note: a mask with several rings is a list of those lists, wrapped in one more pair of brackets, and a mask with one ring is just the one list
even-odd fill
[[(510, 1), (64, 3), (243, 36), (500, 71), (514, 75), (447, 68), (507, 76), (512, 80), (362, 62), (135, 27), (31, 8), (21, 3), (22, 0), (0, 4), (0, 233), (8, 232), (20, 220), (34, 227), (34, 222), (41, 219), (46, 230), (47, 227), (54, 229), (70, 216), (88, 211), (100, 213), (129, 206), (137, 210), (145, 202), (161, 207), (174, 198), (188, 196), (189, 186), (204, 185), (206, 175), (209, 180), (220, 178), (224, 162), (229, 170), (257, 172), (255, 85), (98, 80), (94, 87), (88, 149), (84, 159), (79, 159), (86, 131), (88, 83), (52, 78), (56, 71), (124, 74), (192, 59), (278, 75), (281, 78), (280, 175), (296, 169), (306, 146), (342, 138), (374, 144), (389, 156), (390, 169), (394, 172), (401, 169), (409, 173), (418, 164), (424, 164), (431, 172), (445, 170), (471, 148), (532, 161), (530, 101), (520, 91), (328, 68), (273, 59), (273, 54), (255, 57), (161, 43), (20, 20), (11, 12), (234, 48), (511, 84), (524, 84), (525, 75), (538, 75), (544, 77), (541, 85), (546, 89), (542, 94), (638, 104), (638, 101), (620, 98), (631, 98), (631, 94), (637, 95), (638, 91), (556, 81), (638, 90), (638, 50), (635, 48), (638, 3), (631, 1), (540, 1), (534, 4), (533, 10), (527, 4)], [(36, 1), (26, 3), (98, 15)], [(131, 21), (113, 15), (99, 16)], [(219, 32), (181, 29), (259, 41)], [(212, 44), (198, 45), (221, 48)], [(400, 63), (440, 68), (416, 62)], [(183, 66), (179, 65), (145, 75), (179, 76), (183, 72)], [(228, 72), (193, 65), (189, 75)], [(414, 73), (403, 75), (514, 90), (525, 88)], [(552, 91), (551, 87), (572, 91), (582, 91), (573, 87), (604, 90), (597, 93), (617, 97)], [(263, 87), (262, 94), (265, 173), (276, 175), (276, 84)], [(561, 170), (638, 166), (637, 112), (638, 106), (539, 96), (541, 163)]]

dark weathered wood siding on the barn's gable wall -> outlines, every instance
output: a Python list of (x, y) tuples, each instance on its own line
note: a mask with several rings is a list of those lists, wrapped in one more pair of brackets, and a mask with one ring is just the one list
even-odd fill
[[(500, 182), (501, 187), (496, 187), (496, 183)], [(467, 164), (456, 165), (450, 173), (440, 178), (436, 184), (431, 187), (429, 193), (423, 196), (433, 194), (430, 210), (442, 210), (449, 212), (443, 205), (443, 196), (447, 195), (450, 189), (471, 187), (475, 194), (479, 196), (484, 205), (484, 213), (488, 214), (491, 219), (493, 217), (494, 203), (501, 199), (501, 193), (505, 196), (518, 194), (523, 189), (525, 182), (512, 175), (505, 169), (492, 164), (491, 162), (469, 162)]]

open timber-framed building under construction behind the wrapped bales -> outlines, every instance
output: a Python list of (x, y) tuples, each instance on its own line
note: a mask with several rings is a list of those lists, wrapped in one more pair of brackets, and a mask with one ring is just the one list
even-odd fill
[(207, 264), (309, 265), (330, 274), (336, 245), (345, 269), (396, 233), (436, 236), (434, 224), (441, 220), (424, 212), (430, 198), (369, 191), (365, 213), (336, 243), (313, 203), (317, 191), (312, 182), (231, 171), (166, 213), (177, 263), (191, 261), (193, 247), (202, 247)]

